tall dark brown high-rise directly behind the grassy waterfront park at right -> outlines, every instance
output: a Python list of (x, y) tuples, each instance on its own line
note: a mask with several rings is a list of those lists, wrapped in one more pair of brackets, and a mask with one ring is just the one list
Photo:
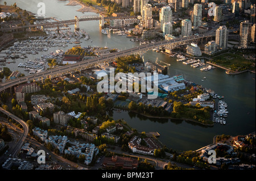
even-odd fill
[(245, 20), (240, 23), (240, 47), (247, 48), (251, 41), (251, 23)]

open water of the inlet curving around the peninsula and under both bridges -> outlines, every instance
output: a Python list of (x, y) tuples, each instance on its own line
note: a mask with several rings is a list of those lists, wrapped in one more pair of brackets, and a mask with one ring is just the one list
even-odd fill
[[(68, 1), (50, 1), (50, 0), (10, 0), (7, 4), (17, 3), (21, 9), (34, 12), (38, 11), (37, 5), (39, 2), (46, 4), (46, 16), (54, 16), (58, 19), (73, 19), (75, 15), (95, 15), (94, 12), (77, 12), (80, 6), (65, 6)], [(0, 1), (3, 4), (3, 1)], [(73, 30), (74, 26), (70, 26)], [(103, 35), (98, 26), (98, 21), (81, 22), (80, 28), (84, 29), (90, 35), (90, 40), (82, 41), (81, 46), (98, 46), (105, 47), (106, 44), (110, 48), (118, 48), (120, 50), (133, 48), (138, 46), (137, 42), (132, 42), (125, 36), (109, 33)], [(71, 48), (61, 47), (63, 50)], [(50, 48), (48, 51), (57, 50), (59, 48)], [(31, 55), (30, 58), (36, 58), (38, 55)], [(166, 54), (149, 51), (143, 55), (144, 61), (158, 61), (159, 64), (171, 64), (168, 67), (170, 76), (182, 74), (185, 79), (191, 80), (197, 84), (203, 85), (208, 89), (214, 90), (218, 95), (224, 95), (224, 101), (228, 103), (229, 116), (227, 117), (226, 125), (214, 124), (213, 127), (204, 127), (203, 125), (191, 123), (184, 120), (168, 120), (168, 119), (148, 119), (127, 111), (113, 112), (113, 118), (125, 119), (125, 121), (139, 132), (159, 132), (159, 140), (167, 145), (168, 148), (175, 150), (196, 150), (205, 145), (212, 144), (213, 137), (218, 134), (229, 134), (232, 136), (255, 132), (255, 74), (242, 73), (238, 75), (228, 75), (224, 70), (216, 68), (210, 71), (200, 71), (199, 68), (191, 68), (189, 65), (184, 65), (177, 62), (175, 58), (169, 57)], [(24, 60), (16, 60), (13, 64), (7, 64), (9, 68), (19, 70), (17, 65)], [(20, 69), (22, 71), (23, 69)], [(206, 77), (205, 81), (201, 79)]]

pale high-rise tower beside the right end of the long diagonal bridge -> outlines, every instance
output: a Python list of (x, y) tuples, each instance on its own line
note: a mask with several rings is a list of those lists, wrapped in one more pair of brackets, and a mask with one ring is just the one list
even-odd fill
[(216, 30), (215, 41), (219, 49), (225, 49), (228, 47), (228, 28), (226, 28), (226, 26), (220, 26)]

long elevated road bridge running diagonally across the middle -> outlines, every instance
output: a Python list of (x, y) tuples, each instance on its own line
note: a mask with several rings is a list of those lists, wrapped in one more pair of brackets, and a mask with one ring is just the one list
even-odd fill
[[(238, 31), (238, 29), (229, 30), (230, 33), (236, 32), (236, 31)], [(51, 78), (59, 77), (60, 75), (72, 74), (85, 69), (93, 68), (93, 67), (96, 67), (97, 64), (100, 64), (102, 62), (113, 62), (115, 58), (118, 58), (118, 57), (129, 56), (130, 54), (142, 55), (146, 53), (148, 50), (152, 50), (154, 48), (165, 47), (169, 50), (172, 50), (181, 45), (199, 43), (199, 41), (203, 41), (203, 40), (208, 41), (212, 36), (215, 36), (214, 29), (201, 35), (192, 35), (187, 37), (179, 37), (172, 40), (156, 41), (154, 43), (139, 45), (138, 47), (125, 49), (119, 52), (109, 53), (107, 55), (100, 56), (97, 58), (92, 58), (90, 60), (80, 61), (80, 62), (77, 62), (76, 64), (59, 66), (57, 68), (49, 69), (40, 73), (16, 78), (12, 81), (2, 82), (0, 83), (0, 92), (6, 89), (9, 89), (11, 87), (14, 87), (20, 83), (24, 83), (28, 81), (43, 81), (46, 78), (51, 79)]]

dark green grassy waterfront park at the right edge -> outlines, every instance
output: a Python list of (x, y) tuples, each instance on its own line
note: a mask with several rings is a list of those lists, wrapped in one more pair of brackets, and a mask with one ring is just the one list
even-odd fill
[[(242, 70), (255, 70), (252, 60), (247, 60), (239, 54), (225, 53), (216, 56), (211, 61), (214, 64), (225, 66), (231, 70), (242, 71)], [(254, 61), (255, 63), (255, 61)]]

